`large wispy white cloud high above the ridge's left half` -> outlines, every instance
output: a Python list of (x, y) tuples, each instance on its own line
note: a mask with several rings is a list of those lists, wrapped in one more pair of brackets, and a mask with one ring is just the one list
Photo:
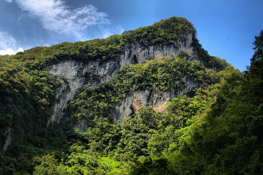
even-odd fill
[(63, 0), (16, 0), (19, 7), (38, 18), (43, 27), (58, 34), (81, 38), (88, 27), (108, 24), (107, 14), (93, 5), (71, 8)]

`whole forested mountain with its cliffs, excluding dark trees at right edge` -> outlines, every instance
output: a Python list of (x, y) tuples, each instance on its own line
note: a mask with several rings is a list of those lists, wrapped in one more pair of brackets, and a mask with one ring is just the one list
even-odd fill
[[(32, 48), (0, 65), (1, 174), (245, 174), (260, 162), (257, 131), (244, 136), (242, 123), (221, 119), (244, 76), (208, 55), (185, 18)], [(242, 138), (256, 146), (225, 170), (224, 150)]]

